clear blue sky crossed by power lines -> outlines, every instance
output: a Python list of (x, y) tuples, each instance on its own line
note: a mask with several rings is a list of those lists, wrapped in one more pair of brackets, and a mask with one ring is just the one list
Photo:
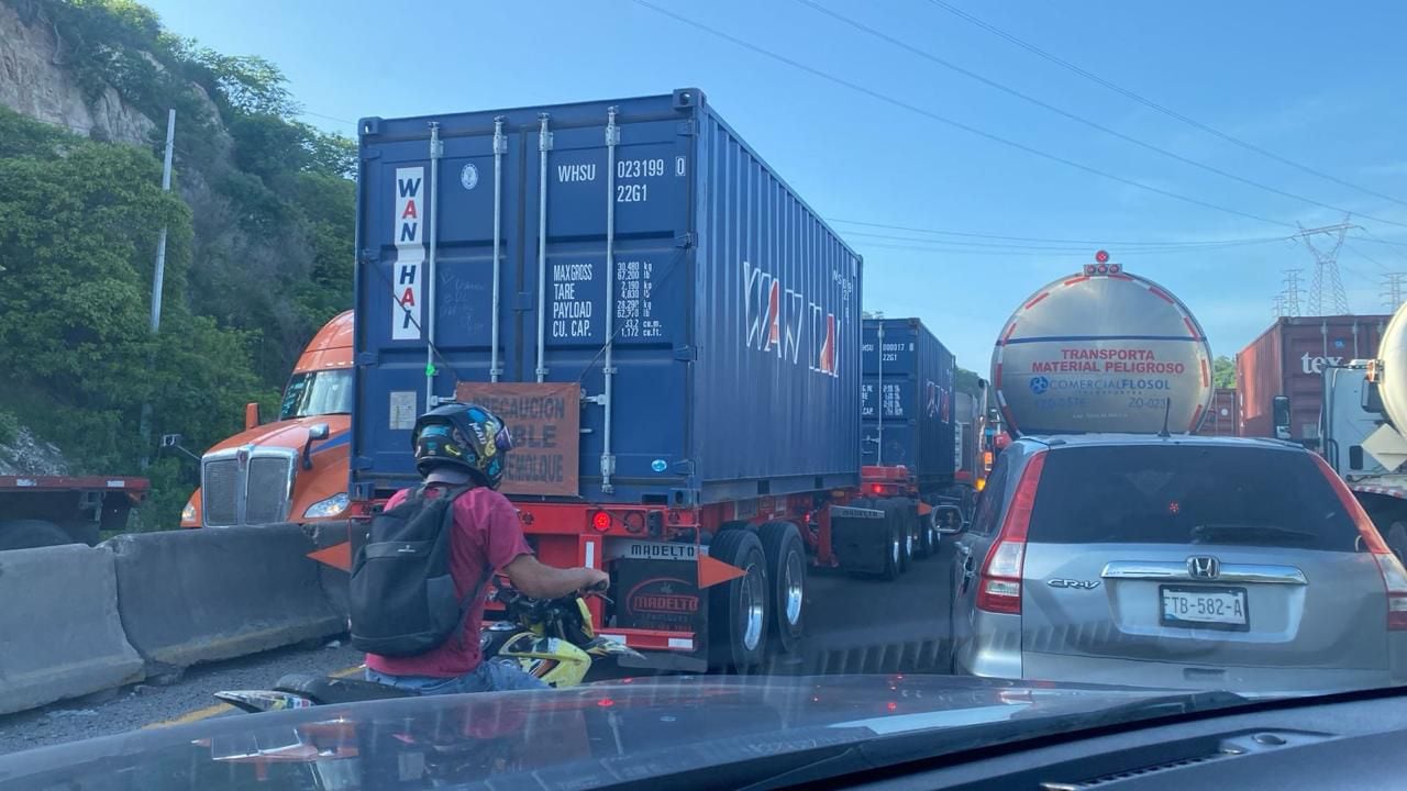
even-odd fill
[[(1088, 128), (799, 0), (653, 1), (923, 113), (1121, 179), (1292, 225), (1342, 218)], [(1358, 3), (1352, 13), (1328, 13), (1323, 3), (1300, 0), (947, 1), (1206, 125), (1407, 201), (1407, 103), (1401, 101), (1407, 4), (1377, 0)], [(813, 3), (1182, 158), (1387, 221), (1355, 217), (1366, 231), (1352, 232), (1339, 258), (1354, 312), (1383, 312), (1383, 273), (1407, 272), (1407, 203), (1218, 141), (929, 0)], [(1218, 355), (1234, 355), (1271, 324), (1271, 300), (1280, 290), (1283, 269), (1303, 267), (1306, 284), (1313, 274), (1313, 259), (1297, 242), (1185, 246), (1286, 236), (1293, 228), (1193, 205), (996, 144), (630, 0), (146, 4), (180, 35), (225, 53), (276, 62), (308, 110), (307, 120), (329, 131), (350, 135), (350, 121), (363, 115), (488, 110), (696, 86), (827, 218), (1079, 241), (940, 236), (834, 222), (865, 256), (865, 307), (923, 318), (960, 365), (983, 373), (1009, 311), (1045, 281), (1079, 269), (1097, 246), (1179, 294)]]

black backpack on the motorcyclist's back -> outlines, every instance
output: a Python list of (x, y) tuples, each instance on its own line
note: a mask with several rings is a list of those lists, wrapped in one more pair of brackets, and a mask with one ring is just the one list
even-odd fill
[[(371, 519), (370, 535), (352, 560), (349, 605), (352, 646), (380, 656), (415, 656), (457, 636), (464, 612), (488, 581), (488, 571), (460, 600), (450, 577), (454, 500), (474, 487), (447, 487), (426, 497), (426, 484)], [(474, 639), (478, 639), (476, 635)]]

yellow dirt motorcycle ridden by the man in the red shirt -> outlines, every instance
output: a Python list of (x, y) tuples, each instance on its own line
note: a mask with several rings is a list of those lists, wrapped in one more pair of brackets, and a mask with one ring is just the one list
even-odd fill
[[(588, 595), (602, 595), (591, 591)], [(597, 635), (591, 609), (581, 595), (530, 598), (511, 587), (498, 587), (491, 601), (504, 605), (504, 619), (484, 624), (478, 640), (484, 662), (516, 662), (550, 687), (581, 684), (597, 660), (639, 652), (619, 640)], [(228, 690), (215, 698), (250, 714), (315, 705), (415, 697), (415, 692), (364, 681), (293, 673), (272, 690)]]

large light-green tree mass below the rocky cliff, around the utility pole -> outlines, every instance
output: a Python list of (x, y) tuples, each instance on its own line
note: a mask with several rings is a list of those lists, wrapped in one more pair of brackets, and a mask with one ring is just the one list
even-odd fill
[[(0, 159), (0, 408), (59, 445), (80, 472), (135, 474), (155, 432), (197, 446), (238, 428), (239, 404), (267, 398), (250, 365), (256, 335), (221, 329), (184, 307), (189, 208), (160, 190), (151, 152), (90, 142), (0, 108), (27, 141)], [(162, 332), (149, 328), (156, 238), (166, 227)], [(193, 470), (148, 472), (156, 517), (176, 524)], [(179, 502), (177, 502), (179, 501)]]

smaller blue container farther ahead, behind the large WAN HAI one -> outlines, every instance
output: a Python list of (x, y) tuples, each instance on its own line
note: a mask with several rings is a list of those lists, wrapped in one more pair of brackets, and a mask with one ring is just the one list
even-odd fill
[(924, 493), (951, 483), (957, 455), (953, 355), (916, 318), (867, 318), (861, 356), (864, 463), (903, 464)]

